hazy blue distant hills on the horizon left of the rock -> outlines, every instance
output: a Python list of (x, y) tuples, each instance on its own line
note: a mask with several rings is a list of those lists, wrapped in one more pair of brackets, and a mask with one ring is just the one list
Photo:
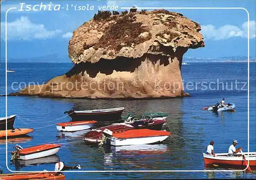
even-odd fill
[[(5, 62), (5, 57), (1, 57), (1, 62)], [(46, 56), (30, 58), (7, 58), (7, 62), (70, 62), (68, 55), (49, 54)]]

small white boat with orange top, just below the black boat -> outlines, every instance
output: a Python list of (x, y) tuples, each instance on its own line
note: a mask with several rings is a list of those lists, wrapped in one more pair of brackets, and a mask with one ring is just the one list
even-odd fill
[(86, 130), (93, 127), (97, 121), (73, 121), (57, 123), (56, 128), (59, 131), (73, 132), (78, 130)]

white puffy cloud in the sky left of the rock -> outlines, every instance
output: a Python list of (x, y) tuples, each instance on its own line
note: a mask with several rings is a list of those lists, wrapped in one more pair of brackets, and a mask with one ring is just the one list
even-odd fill
[[(61, 30), (49, 31), (45, 25), (34, 24), (27, 16), (7, 22), (8, 40), (31, 40), (31, 39), (48, 39), (61, 33)], [(1, 38), (5, 37), (5, 22), (1, 22)]]

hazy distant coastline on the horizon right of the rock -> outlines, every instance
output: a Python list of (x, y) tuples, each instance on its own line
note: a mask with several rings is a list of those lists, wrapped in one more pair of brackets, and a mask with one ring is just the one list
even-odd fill
[[(183, 57), (183, 62), (247, 62), (247, 56), (227, 56), (227, 57)], [(250, 62), (256, 62), (255, 57), (250, 57)]]

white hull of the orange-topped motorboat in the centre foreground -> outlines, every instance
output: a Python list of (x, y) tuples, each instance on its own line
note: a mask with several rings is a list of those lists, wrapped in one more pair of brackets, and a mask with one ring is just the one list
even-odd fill
[(164, 141), (168, 136), (156, 136), (156, 137), (143, 137), (143, 138), (127, 138), (119, 139), (113, 137), (111, 139), (112, 146), (129, 146), (129, 145), (141, 145), (141, 144), (154, 144)]

